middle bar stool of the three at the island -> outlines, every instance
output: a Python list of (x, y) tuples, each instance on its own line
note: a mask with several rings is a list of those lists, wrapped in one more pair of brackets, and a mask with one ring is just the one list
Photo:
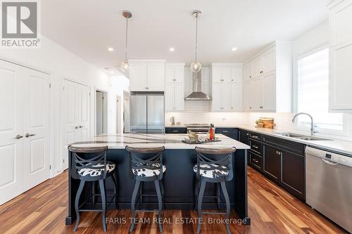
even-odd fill
[[(139, 199), (142, 199), (143, 196), (158, 197), (158, 221), (161, 220), (161, 214), (163, 212), (164, 190), (163, 186), (160, 186), (160, 183), (163, 179), (163, 173), (166, 171), (166, 167), (163, 165), (163, 152), (165, 148), (132, 148), (127, 145), (126, 150), (130, 155), (130, 178), (134, 178), (136, 181), (134, 184), (131, 201), (132, 223), (130, 226), (130, 232), (132, 232), (134, 228), (136, 212), (155, 212), (151, 210), (135, 209), (137, 193), (139, 193)], [(142, 194), (142, 190), (140, 190), (139, 186), (141, 186), (141, 184), (144, 182), (154, 182), (156, 195)], [(162, 233), (163, 226), (160, 222), (158, 222), (158, 226), (160, 232)]]

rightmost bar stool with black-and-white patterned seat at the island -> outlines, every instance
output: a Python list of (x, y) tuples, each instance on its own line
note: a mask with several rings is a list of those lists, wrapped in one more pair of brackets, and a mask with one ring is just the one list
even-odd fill
[[(196, 147), (197, 164), (194, 165), (193, 171), (196, 173), (196, 178), (201, 183), (201, 186), (196, 186), (196, 207), (198, 207), (198, 217), (201, 219), (201, 214), (225, 214), (226, 219), (230, 217), (230, 198), (227, 194), (225, 181), (231, 181), (234, 177), (232, 169), (232, 154), (236, 148), (200, 148)], [(218, 209), (220, 209), (220, 196), (205, 196), (204, 190), (206, 183), (220, 183), (222, 193), (225, 197), (226, 212), (202, 212), (201, 205), (203, 197), (217, 197)], [(198, 197), (197, 197), (198, 196)], [(227, 233), (230, 232), (229, 223), (226, 223)], [(201, 232), (201, 223), (198, 223), (197, 233)]]

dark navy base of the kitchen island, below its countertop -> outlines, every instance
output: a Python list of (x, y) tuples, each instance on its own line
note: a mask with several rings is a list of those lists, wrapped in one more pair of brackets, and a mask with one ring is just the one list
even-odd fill
[[(251, 221), (248, 215), (247, 200), (247, 150), (238, 149), (234, 152), (233, 168), (234, 179), (226, 182), (227, 191), (230, 196), (231, 208), (234, 209), (243, 223), (250, 225)], [(69, 165), (71, 164), (72, 154), (69, 152)], [(129, 158), (125, 149), (109, 149), (107, 160), (117, 165), (115, 173), (118, 178), (118, 208), (130, 209), (131, 197), (134, 188), (134, 180), (129, 175)], [(191, 149), (166, 149), (163, 153), (163, 164), (167, 170), (163, 177), (165, 187), (164, 209), (194, 209), (194, 183), (196, 174), (193, 171), (196, 164), (196, 151)], [(76, 180), (68, 173), (68, 216), (66, 225), (74, 223), (75, 217), (75, 195), (77, 193), (79, 180)], [(113, 191), (113, 183), (106, 181), (107, 193)], [(90, 207), (89, 186), (84, 188), (80, 202)], [(155, 188), (152, 183), (144, 183), (144, 194), (154, 194)], [(217, 190), (215, 186), (208, 183), (205, 195), (215, 195)], [(138, 203), (137, 203), (138, 206)], [(156, 197), (143, 197), (142, 209), (157, 209), (158, 200)], [(96, 207), (101, 207), (101, 200), (96, 201)], [(84, 207), (83, 207), (84, 208)], [(215, 198), (203, 200), (203, 209), (217, 209)], [(111, 204), (108, 209), (115, 209)], [(108, 217), (107, 217), (108, 218)]]

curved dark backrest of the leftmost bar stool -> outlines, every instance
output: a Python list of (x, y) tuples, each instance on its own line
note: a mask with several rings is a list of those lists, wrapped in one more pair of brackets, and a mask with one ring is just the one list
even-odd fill
[[(68, 150), (73, 152), (72, 164), (70, 165), (73, 178), (84, 178), (77, 172), (80, 169), (101, 169), (103, 170), (101, 178), (106, 178), (106, 151), (108, 151), (108, 146), (83, 148), (69, 145)], [(92, 158), (83, 158), (83, 154), (92, 154), (94, 156)]]

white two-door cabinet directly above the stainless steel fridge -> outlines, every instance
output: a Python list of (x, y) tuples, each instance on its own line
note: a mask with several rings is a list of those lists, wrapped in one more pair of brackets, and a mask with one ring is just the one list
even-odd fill
[(162, 60), (130, 60), (130, 91), (164, 91)]

